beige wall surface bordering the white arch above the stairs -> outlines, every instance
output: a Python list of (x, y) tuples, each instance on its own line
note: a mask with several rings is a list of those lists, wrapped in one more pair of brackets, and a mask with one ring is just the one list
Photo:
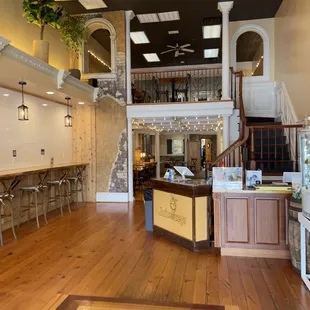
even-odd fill
[[(306, 1), (306, 0), (305, 0)], [(275, 78), (275, 26), (274, 26), (274, 18), (266, 18), (266, 19), (253, 19), (253, 20), (245, 20), (238, 22), (230, 22), (230, 40), (232, 39), (234, 33), (244, 25), (258, 25), (263, 27), (269, 35), (270, 39), (270, 79), (274, 80)]]

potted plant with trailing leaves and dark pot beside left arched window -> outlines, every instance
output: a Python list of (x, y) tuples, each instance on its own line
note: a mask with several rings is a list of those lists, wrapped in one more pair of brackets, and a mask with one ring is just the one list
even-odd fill
[(60, 22), (61, 41), (65, 43), (70, 51), (71, 75), (77, 79), (81, 78), (78, 69), (78, 60), (82, 52), (84, 39), (86, 37), (85, 21), (80, 16), (64, 14)]

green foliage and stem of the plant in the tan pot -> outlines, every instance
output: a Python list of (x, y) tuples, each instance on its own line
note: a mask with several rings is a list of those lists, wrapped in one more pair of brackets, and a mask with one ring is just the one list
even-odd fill
[(23, 16), (26, 16), (28, 23), (40, 28), (40, 40), (44, 39), (46, 26), (60, 28), (63, 8), (58, 6), (55, 0), (24, 0), (23, 10)]

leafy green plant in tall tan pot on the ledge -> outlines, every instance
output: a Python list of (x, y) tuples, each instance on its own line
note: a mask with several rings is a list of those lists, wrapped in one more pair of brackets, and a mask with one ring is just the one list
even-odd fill
[(40, 40), (33, 41), (33, 56), (48, 63), (49, 42), (44, 40), (44, 30), (46, 26), (59, 29), (62, 7), (55, 0), (24, 0), (23, 10), (28, 23), (40, 28)]

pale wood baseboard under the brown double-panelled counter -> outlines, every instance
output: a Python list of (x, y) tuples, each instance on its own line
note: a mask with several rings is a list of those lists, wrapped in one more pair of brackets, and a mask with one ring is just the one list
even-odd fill
[(260, 249), (238, 249), (221, 248), (222, 256), (241, 256), (241, 257), (259, 257), (259, 258), (280, 258), (290, 259), (288, 250), (260, 250)]

